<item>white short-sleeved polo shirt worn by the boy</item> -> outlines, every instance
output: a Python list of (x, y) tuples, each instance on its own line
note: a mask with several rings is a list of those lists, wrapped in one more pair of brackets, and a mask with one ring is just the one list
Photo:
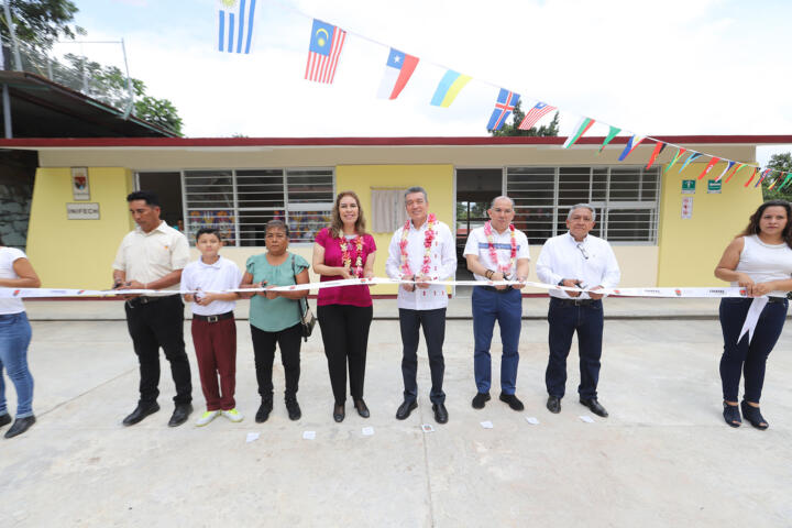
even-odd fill
[[(215, 264), (206, 264), (201, 258), (190, 262), (182, 272), (182, 290), (190, 292), (202, 289), (204, 292), (221, 292), (223, 289), (239, 288), (242, 282), (242, 272), (233, 262), (221, 256)], [(193, 314), (199, 316), (217, 316), (233, 311), (237, 301), (216, 300), (208, 306), (193, 302)]]

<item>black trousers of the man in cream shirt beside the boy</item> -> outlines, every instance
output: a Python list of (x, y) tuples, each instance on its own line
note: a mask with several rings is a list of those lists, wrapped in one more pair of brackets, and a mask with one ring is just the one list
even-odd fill
[(160, 396), (160, 348), (170, 362), (176, 385), (176, 404), (193, 402), (189, 360), (184, 344), (184, 304), (178, 295), (147, 304), (131, 299), (124, 304), (129, 329), (140, 363), (140, 403), (152, 404)]

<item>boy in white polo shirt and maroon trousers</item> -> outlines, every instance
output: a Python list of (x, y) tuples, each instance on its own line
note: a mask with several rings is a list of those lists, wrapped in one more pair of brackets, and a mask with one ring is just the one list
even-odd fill
[[(196, 234), (196, 248), (201, 256), (187, 264), (182, 273), (182, 290), (200, 290), (184, 294), (193, 309), (193, 344), (196, 349), (201, 389), (207, 410), (196, 421), (206, 426), (222, 414), (231, 421), (242, 421), (235, 408), (237, 384), (237, 321), (233, 309), (239, 295), (218, 293), (238, 288), (242, 272), (233, 262), (220, 256), (220, 233), (204, 228)], [(220, 383), (218, 385), (218, 375)]]

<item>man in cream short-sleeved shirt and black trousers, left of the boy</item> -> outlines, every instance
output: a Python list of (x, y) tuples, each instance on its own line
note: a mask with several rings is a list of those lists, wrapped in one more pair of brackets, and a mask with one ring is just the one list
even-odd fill
[(184, 304), (178, 295), (182, 270), (189, 261), (187, 238), (160, 219), (160, 202), (153, 193), (139, 190), (127, 197), (138, 228), (128, 233), (113, 262), (116, 289), (172, 289), (173, 295), (134, 296), (127, 300), (127, 327), (140, 363), (140, 400), (124, 418), (138, 424), (160, 410), (160, 346), (170, 362), (176, 385), (168, 426), (180, 426), (193, 413), (193, 385), (184, 343)]

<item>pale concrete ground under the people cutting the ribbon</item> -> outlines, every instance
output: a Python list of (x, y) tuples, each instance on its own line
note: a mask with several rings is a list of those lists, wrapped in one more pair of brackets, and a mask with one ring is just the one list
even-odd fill
[[(463, 318), (466, 302), (454, 299), (449, 314)], [(574, 348), (562, 411), (547, 411), (547, 299), (527, 299), (517, 389), (524, 413), (498, 402), (497, 388), (485, 409), (471, 408), (472, 324), (454, 319), (446, 345), (449, 424), (433, 422), (422, 346), (419, 408), (397, 421), (398, 322), (384, 319), (395, 315), (394, 302), (377, 301), (370, 419), (348, 403), (346, 419), (333, 422), (317, 331), (302, 349), (302, 419), (289, 421), (278, 395), (270, 420), (255, 424), (250, 330), (240, 321), (237, 400), (245, 420), (193, 426), (204, 398), (186, 326), (196, 413), (172, 429), (164, 360), (163, 409), (121, 426), (135, 406), (138, 370), (120, 302), (30, 301), (38, 422), (0, 439), (0, 527), (792, 526), (792, 327), (768, 364), (762, 409), (770, 429), (732, 429), (721, 416), (717, 301), (606, 302), (606, 314), (620, 317), (605, 327), (600, 398), (607, 419), (575, 398)], [(499, 351), (496, 338), (495, 381)], [(283, 380), (276, 360), (276, 393)], [(7, 395), (13, 409), (13, 388)], [(485, 420), (492, 429), (481, 426)], [(435, 432), (421, 432), (425, 422)], [(364, 436), (364, 427), (374, 435)], [(304, 431), (316, 439), (304, 440)], [(250, 432), (260, 438), (248, 443)]]

